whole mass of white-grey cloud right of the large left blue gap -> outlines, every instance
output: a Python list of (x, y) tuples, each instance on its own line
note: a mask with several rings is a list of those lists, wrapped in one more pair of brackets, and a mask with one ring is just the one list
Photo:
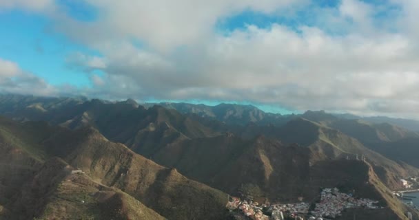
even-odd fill
[(310, 25), (250, 23), (222, 33), (216, 23), (243, 10), (293, 14), (310, 2), (85, 1), (99, 11), (95, 21), (51, 16), (57, 31), (101, 54), (68, 56), (70, 67), (89, 74), (93, 87), (83, 92), (90, 96), (409, 116), (419, 106), (415, 0), (343, 0), (314, 9)]

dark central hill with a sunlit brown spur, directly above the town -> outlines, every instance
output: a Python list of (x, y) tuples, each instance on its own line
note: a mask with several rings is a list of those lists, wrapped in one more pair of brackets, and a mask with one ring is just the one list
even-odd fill
[(307, 178), (307, 153), (262, 136), (243, 140), (226, 133), (170, 144), (150, 157), (232, 195), (252, 186), (260, 197), (285, 201), (295, 199), (298, 182)]

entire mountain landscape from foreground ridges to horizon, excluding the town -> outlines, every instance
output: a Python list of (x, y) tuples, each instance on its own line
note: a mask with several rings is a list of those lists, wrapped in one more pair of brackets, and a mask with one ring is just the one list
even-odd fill
[[(1, 95), (0, 114), (12, 120), (0, 121), (0, 216), (228, 219), (227, 195), (312, 202), (326, 187), (377, 199), (394, 219), (409, 209), (389, 190), (419, 175), (419, 134), (393, 119), (238, 104), (146, 107)], [(71, 175), (77, 168), (85, 174)]]

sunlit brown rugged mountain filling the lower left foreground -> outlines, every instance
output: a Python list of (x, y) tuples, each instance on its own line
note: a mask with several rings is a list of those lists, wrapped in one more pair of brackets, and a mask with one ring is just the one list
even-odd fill
[[(57, 209), (65, 207), (72, 213), (83, 204), (81, 210), (85, 212), (79, 214), (95, 219), (103, 211), (110, 213), (105, 219), (141, 214), (147, 214), (148, 219), (223, 219), (226, 215), (224, 192), (187, 179), (176, 169), (160, 166), (123, 144), (109, 142), (92, 127), (74, 131), (54, 128), (49, 135), (31, 140), (26, 123), (8, 123), (2, 126), (4, 130), (21, 126), (25, 133), (10, 135), (1, 142), (1, 146), (8, 146), (1, 148), (1, 155), (8, 155), (8, 165), (20, 170), (14, 171), (19, 179), (8, 178), (6, 169), (0, 173), (2, 179), (13, 181), (2, 181), (1, 206), (6, 219), (59, 217), (66, 212)], [(17, 144), (10, 146), (10, 142)], [(43, 159), (37, 159), (39, 155), (34, 152)], [(72, 170), (83, 170), (83, 177), (74, 177)], [(21, 193), (8, 195), (10, 190)], [(110, 205), (114, 210), (107, 209)]]

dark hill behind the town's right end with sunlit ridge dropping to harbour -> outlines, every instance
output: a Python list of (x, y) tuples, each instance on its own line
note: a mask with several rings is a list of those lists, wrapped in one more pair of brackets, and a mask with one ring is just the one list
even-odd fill
[[(327, 172), (325, 172), (327, 170)], [(407, 208), (396, 197), (391, 195), (389, 189), (382, 184), (374, 172), (373, 166), (368, 162), (340, 159), (319, 162), (311, 168), (311, 181), (309, 186), (334, 187), (343, 192), (354, 193), (356, 197), (367, 197), (380, 201), (380, 210), (348, 209), (339, 220), (356, 219), (407, 219), (407, 211), (413, 213), (413, 219), (419, 219), (417, 212)]]

